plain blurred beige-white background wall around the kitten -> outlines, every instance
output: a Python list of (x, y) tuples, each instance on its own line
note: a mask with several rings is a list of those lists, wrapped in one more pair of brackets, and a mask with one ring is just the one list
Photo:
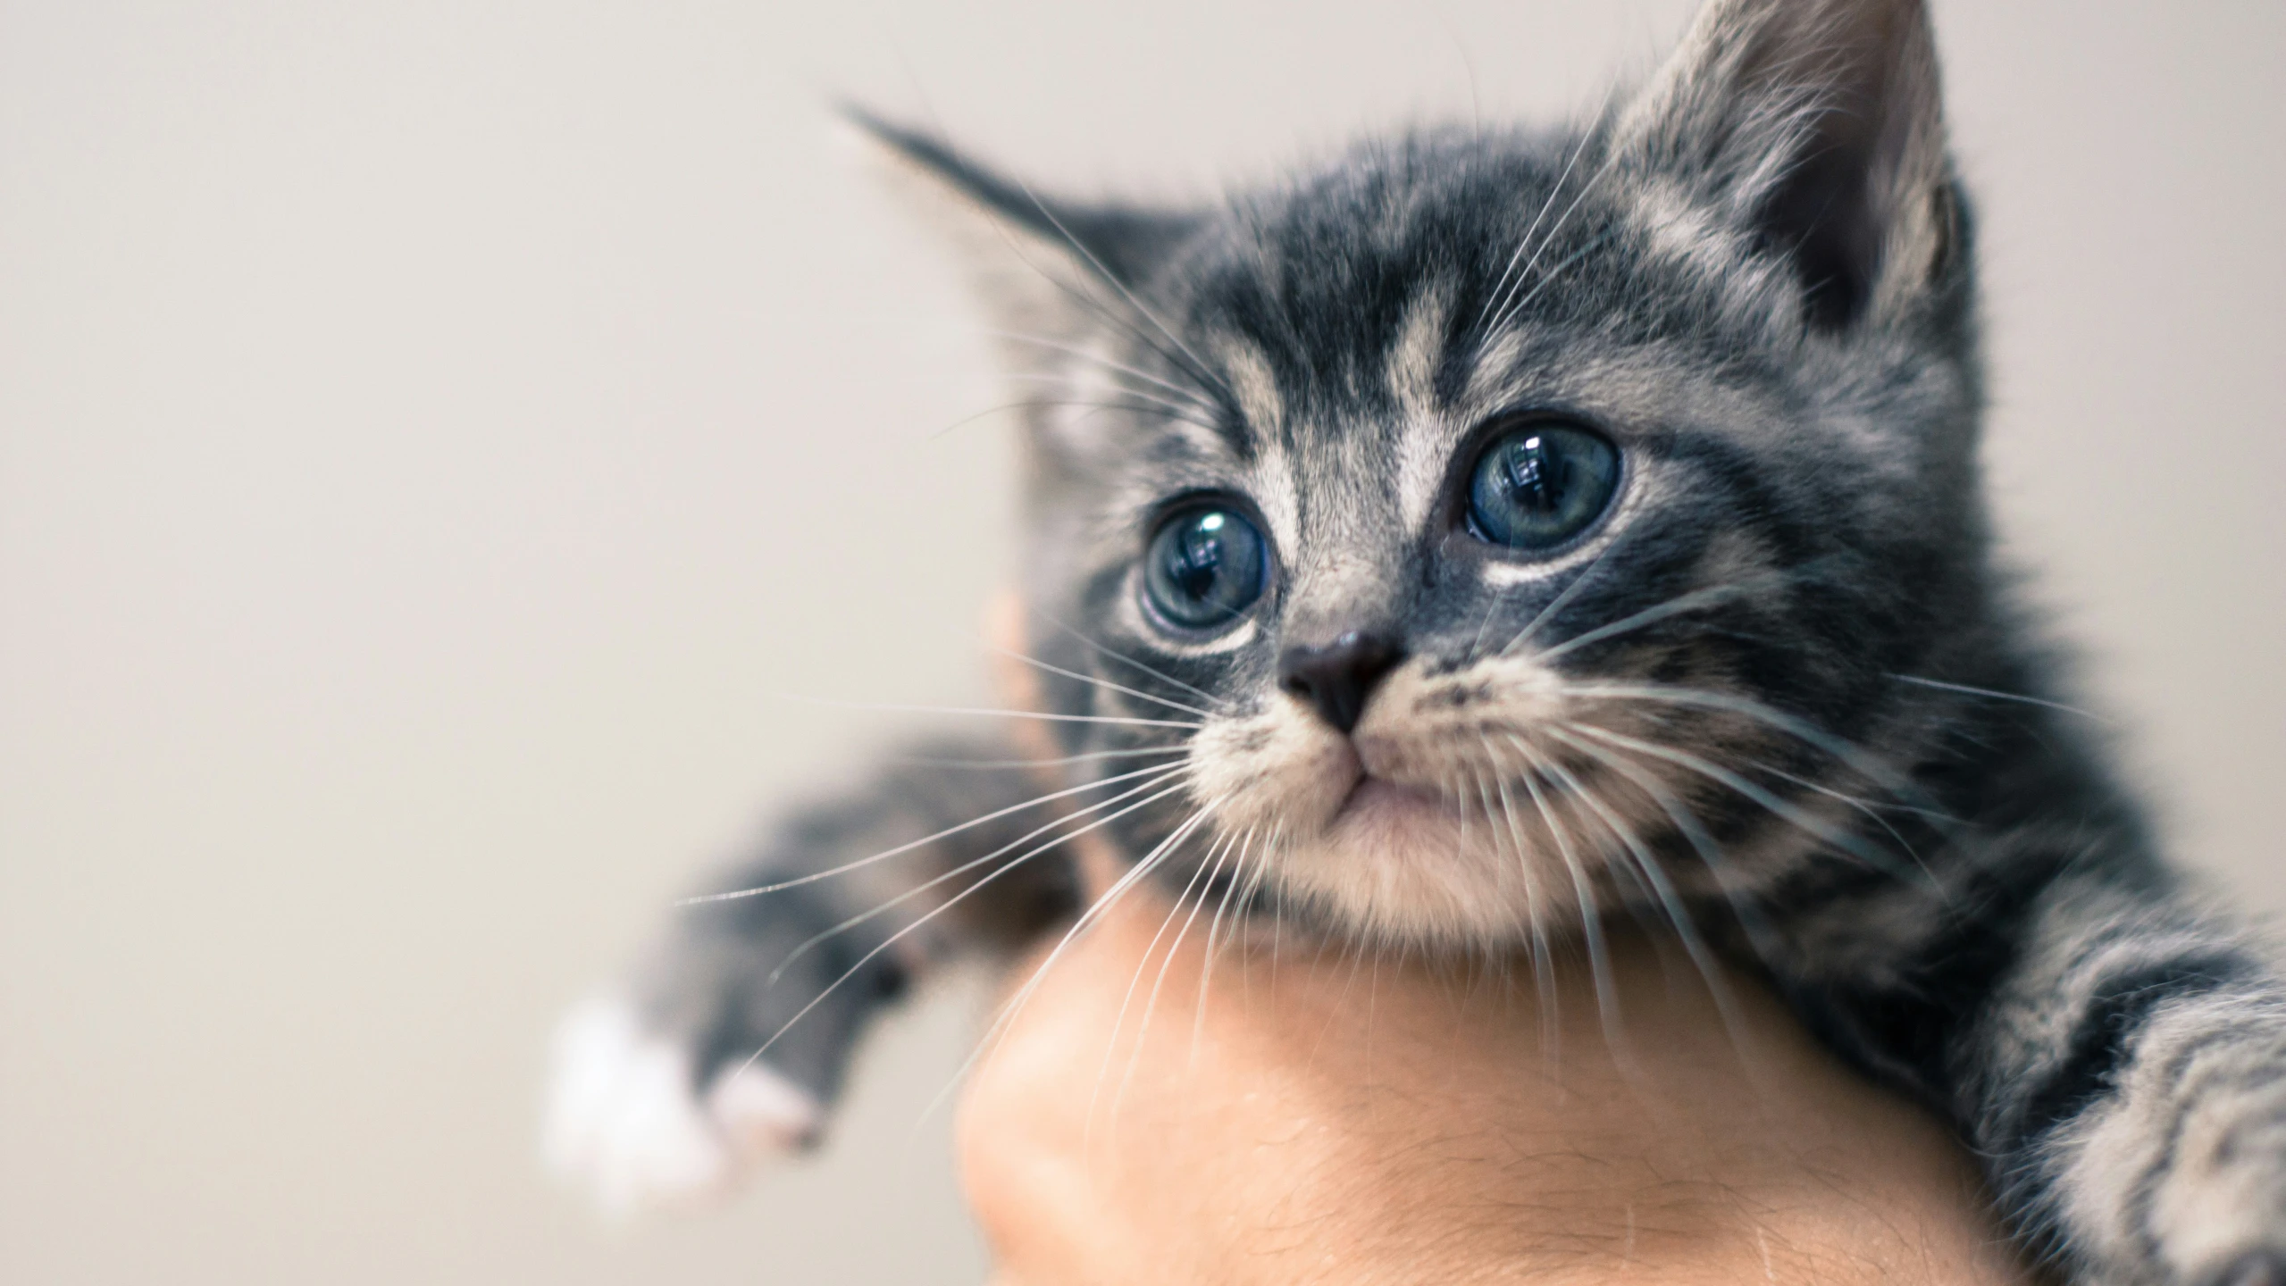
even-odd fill
[[(0, 1279), (978, 1281), (878, 1039), (606, 1231), (542, 1048), (700, 863), (985, 697), (1010, 443), (823, 103), (1077, 192), (1545, 114), (1687, 0), (0, 0)], [(2181, 852), (2286, 909), (2286, 7), (1936, 0), (1989, 461)]]

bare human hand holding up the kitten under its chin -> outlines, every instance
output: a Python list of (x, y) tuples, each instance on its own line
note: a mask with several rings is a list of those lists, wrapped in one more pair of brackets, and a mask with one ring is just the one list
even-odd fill
[(1932, 1115), (1671, 937), (1614, 930), (1600, 1005), (1577, 948), (1209, 955), (1212, 914), (1136, 886), (1015, 971), (958, 1144), (999, 1286), (2030, 1279)]

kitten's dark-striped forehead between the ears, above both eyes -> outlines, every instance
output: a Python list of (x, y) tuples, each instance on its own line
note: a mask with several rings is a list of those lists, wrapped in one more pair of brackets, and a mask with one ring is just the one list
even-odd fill
[(1529, 400), (1628, 347), (1669, 368), (1767, 349), (1772, 265), (1607, 151), (1596, 132), (1362, 146), (1232, 201), (1159, 288), (1177, 329), (1214, 336), (1246, 427), (1287, 445)]

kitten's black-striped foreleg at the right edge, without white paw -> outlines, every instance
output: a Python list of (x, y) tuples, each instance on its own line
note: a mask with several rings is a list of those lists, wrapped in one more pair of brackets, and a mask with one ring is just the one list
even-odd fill
[(2073, 1279), (2286, 1284), (2286, 980), (2140, 854), (1993, 847), (1788, 925), (1804, 1012), (1948, 1108)]

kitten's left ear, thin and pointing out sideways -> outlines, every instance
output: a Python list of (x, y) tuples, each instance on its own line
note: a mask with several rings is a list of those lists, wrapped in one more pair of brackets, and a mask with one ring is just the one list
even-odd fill
[(887, 187), (951, 238), (1008, 331), (1081, 329), (1136, 290), (1196, 226), (1186, 215), (1049, 199), (935, 135), (862, 107), (841, 114)]

